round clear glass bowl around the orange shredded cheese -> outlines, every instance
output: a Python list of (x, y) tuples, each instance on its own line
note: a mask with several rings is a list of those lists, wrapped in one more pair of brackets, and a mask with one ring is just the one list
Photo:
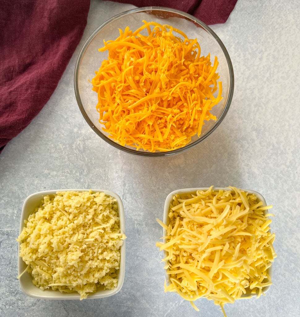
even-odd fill
[[(119, 36), (118, 29), (124, 30), (126, 26), (129, 26), (131, 30), (136, 30), (143, 25), (143, 20), (172, 25), (174, 28), (182, 30), (188, 38), (197, 38), (201, 46), (201, 56), (207, 56), (210, 53), (212, 64), (214, 63), (215, 56), (218, 57), (219, 61), (217, 72), (220, 75), (219, 81), (222, 81), (223, 99), (211, 110), (211, 113), (217, 119), (205, 121), (201, 135), (199, 137), (197, 134), (193, 136), (186, 146), (168, 152), (136, 150), (132, 146), (122, 146), (111, 139), (108, 133), (102, 130), (103, 124), (99, 123), (99, 113), (96, 109), (98, 97), (97, 93), (92, 90), (91, 81), (95, 76), (95, 71), (99, 69), (102, 61), (108, 57), (107, 51), (98, 51), (99, 48), (103, 47), (103, 40), (115, 40)], [(233, 97), (233, 87), (234, 75), (230, 57), (224, 44), (214, 31), (194, 16), (179, 10), (162, 7), (145, 7), (128, 10), (100, 25), (81, 49), (74, 73), (76, 99), (83, 117), (93, 131), (106, 142), (120, 150), (148, 157), (166, 156), (183, 152), (206, 139), (224, 119)], [(218, 90), (215, 94), (217, 93)]]

